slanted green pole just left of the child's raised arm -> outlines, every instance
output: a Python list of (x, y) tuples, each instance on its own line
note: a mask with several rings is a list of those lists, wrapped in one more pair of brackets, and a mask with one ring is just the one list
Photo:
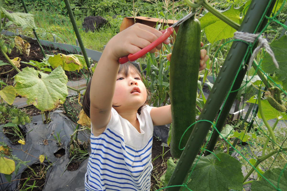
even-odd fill
[[(66, 8), (67, 8), (69, 17), (70, 17), (70, 19), (71, 19), (71, 23), (72, 23), (72, 25), (73, 25), (73, 28), (74, 28), (76, 37), (77, 37), (77, 39), (78, 39), (78, 41), (79, 41), (79, 45), (80, 45), (80, 47), (81, 47), (81, 50), (82, 50), (84, 59), (85, 59), (85, 61), (86, 61), (86, 65), (87, 65), (88, 68), (90, 68), (90, 67), (91, 67), (90, 61), (89, 61), (88, 55), (87, 55), (87, 53), (86, 53), (86, 49), (85, 49), (84, 43), (83, 43), (83, 41), (82, 41), (81, 35), (80, 35), (80, 33), (79, 33), (78, 26), (77, 26), (77, 23), (76, 23), (76, 20), (75, 20), (73, 11), (72, 11), (72, 9), (71, 9), (69, 0), (64, 0), (64, 2), (65, 2), (65, 5), (66, 5)], [(90, 74), (90, 76), (92, 76), (92, 73), (91, 73), (90, 70), (89, 70), (89, 74)]]

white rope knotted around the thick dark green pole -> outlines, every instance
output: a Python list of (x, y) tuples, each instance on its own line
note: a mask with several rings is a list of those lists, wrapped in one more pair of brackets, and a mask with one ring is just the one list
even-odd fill
[[(234, 33), (234, 39), (243, 40), (243, 41), (246, 41), (249, 43), (253, 43), (257, 39), (257, 37), (258, 37), (258, 34), (244, 33), (244, 32), (239, 32), (239, 31), (236, 31)], [(260, 35), (258, 37), (258, 41), (259, 41), (259, 45), (254, 49), (254, 51), (253, 51), (253, 53), (249, 59), (247, 70), (249, 70), (251, 68), (253, 59), (258, 54), (259, 49), (261, 49), (261, 48), (265, 48), (266, 52), (269, 53), (269, 55), (272, 57), (272, 60), (273, 60), (275, 67), (279, 68), (278, 62), (275, 58), (275, 55), (274, 55), (272, 49), (269, 46), (268, 41), (265, 38), (262, 38), (262, 35)], [(243, 68), (245, 68), (245, 66), (243, 66)]]

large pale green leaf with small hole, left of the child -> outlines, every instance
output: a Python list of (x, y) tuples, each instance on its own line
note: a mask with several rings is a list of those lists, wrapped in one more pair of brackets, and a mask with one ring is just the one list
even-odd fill
[(42, 111), (50, 111), (65, 102), (68, 95), (68, 78), (61, 66), (50, 74), (26, 67), (15, 75), (15, 89), (19, 95), (27, 98), (27, 104), (33, 104)]

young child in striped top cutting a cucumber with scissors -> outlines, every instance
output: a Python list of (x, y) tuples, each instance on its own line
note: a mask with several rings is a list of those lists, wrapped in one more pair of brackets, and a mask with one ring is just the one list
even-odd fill
[[(148, 106), (141, 74), (131, 63), (120, 65), (118, 59), (160, 35), (152, 27), (134, 24), (110, 39), (100, 57), (83, 100), (92, 123), (86, 191), (150, 190), (153, 126), (171, 123), (170, 105)], [(200, 69), (207, 60), (206, 50), (201, 50)]]

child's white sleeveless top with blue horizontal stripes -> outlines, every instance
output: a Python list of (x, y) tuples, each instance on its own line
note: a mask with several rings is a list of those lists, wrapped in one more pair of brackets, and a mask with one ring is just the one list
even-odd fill
[(152, 107), (137, 114), (140, 133), (112, 108), (105, 131), (91, 134), (86, 191), (149, 191), (152, 172)]

